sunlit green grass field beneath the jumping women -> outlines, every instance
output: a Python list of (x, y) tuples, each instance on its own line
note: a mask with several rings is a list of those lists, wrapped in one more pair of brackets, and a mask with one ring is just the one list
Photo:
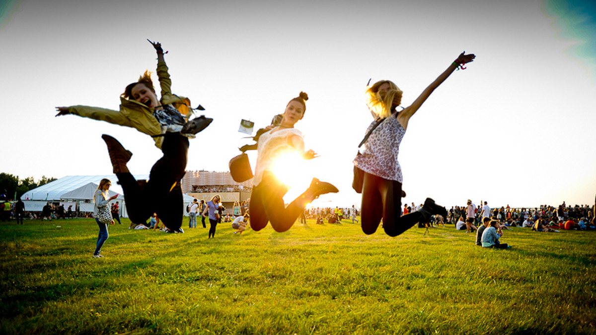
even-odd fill
[[(596, 334), (596, 232), (0, 224), (2, 334)], [(183, 225), (184, 227), (184, 225)]]

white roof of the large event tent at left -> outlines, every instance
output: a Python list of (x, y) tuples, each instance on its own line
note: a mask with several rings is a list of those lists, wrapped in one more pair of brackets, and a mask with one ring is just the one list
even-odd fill
[[(37, 200), (37, 201), (60, 201), (60, 199), (78, 199), (78, 198), (63, 198), (63, 195), (67, 195), (70, 192), (73, 192), (80, 187), (88, 186), (90, 183), (95, 184), (95, 189), (97, 189), (97, 185), (100, 184), (100, 181), (104, 178), (110, 179), (112, 181), (112, 186), (110, 187), (110, 191), (112, 194), (119, 193), (122, 194), (122, 187), (119, 184), (116, 184), (117, 177), (114, 174), (108, 174), (105, 176), (66, 176), (62, 177), (58, 180), (51, 181), (45, 185), (36, 187), (35, 189), (29, 190), (27, 193), (21, 196), (23, 201), (26, 200)], [(135, 175), (135, 178), (138, 179), (149, 179), (147, 174), (139, 174)], [(93, 190), (95, 192), (95, 189)], [(92, 199), (93, 193), (91, 193), (90, 198), (85, 199)], [(83, 199), (83, 198), (80, 198)]]

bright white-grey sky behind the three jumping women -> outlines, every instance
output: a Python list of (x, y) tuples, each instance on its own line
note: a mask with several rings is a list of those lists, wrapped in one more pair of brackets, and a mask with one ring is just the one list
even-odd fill
[(151, 39), (169, 51), (173, 92), (214, 119), (191, 140), (188, 170), (228, 170), (236, 148), (249, 143), (238, 133), (240, 120), (264, 127), (303, 90), (310, 99), (296, 128), (320, 157), (296, 174), (340, 189), (313, 205), (359, 206), (350, 186), (352, 159), (372, 121), (368, 79), (398, 84), (407, 106), (465, 50), (476, 61), (453, 73), (409, 122), (399, 156), (404, 201), (594, 202), (593, 1), (151, 3), (0, 4), (0, 172), (21, 179), (110, 173), (107, 133), (134, 152), (133, 173), (148, 173), (161, 156), (149, 136), (55, 118), (54, 107), (117, 109), (124, 87), (156, 68)]

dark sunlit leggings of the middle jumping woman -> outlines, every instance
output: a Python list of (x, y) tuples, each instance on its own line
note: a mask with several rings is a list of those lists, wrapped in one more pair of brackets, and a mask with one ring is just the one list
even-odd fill
[(250, 195), (250, 227), (254, 231), (265, 228), (268, 222), (280, 233), (290, 229), (304, 212), (306, 205), (312, 201), (302, 193), (286, 207), (284, 195), (287, 192), (288, 187), (274, 174), (263, 174), (263, 179), (259, 185), (253, 187)]

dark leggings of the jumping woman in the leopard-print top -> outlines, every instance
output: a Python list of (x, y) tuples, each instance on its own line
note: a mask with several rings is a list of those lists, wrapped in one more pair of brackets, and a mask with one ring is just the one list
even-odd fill
[(398, 236), (424, 220), (418, 211), (401, 216), (402, 183), (370, 173), (364, 173), (360, 211), (362, 231), (365, 234), (373, 234), (377, 231), (381, 218), (383, 218), (383, 229), (389, 236)]

